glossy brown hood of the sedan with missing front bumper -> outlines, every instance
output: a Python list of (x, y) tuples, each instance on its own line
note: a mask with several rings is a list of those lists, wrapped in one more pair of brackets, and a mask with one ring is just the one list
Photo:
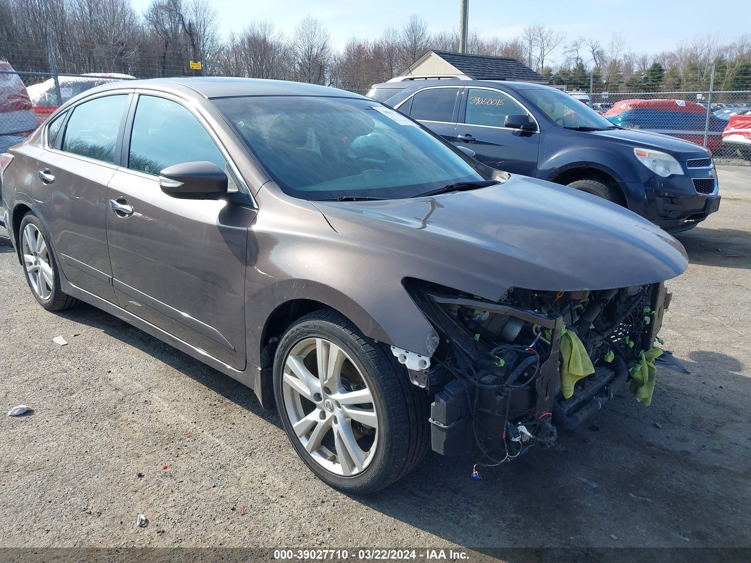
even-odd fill
[[(623, 288), (680, 275), (676, 239), (614, 203), (512, 175), (472, 191), (401, 200), (315, 202), (336, 232), (387, 251), (395, 272), (498, 300), (540, 291)], [(374, 258), (382, 259), (382, 258)]]

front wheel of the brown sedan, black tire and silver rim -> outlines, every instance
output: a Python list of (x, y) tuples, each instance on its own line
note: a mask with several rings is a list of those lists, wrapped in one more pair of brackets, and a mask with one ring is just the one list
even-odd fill
[(383, 489), (427, 450), (427, 396), (390, 352), (335, 311), (313, 312), (287, 330), (273, 379), (292, 446), (336, 489)]

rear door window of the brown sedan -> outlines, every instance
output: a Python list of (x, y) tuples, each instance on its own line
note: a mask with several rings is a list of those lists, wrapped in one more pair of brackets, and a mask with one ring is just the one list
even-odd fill
[(104, 96), (73, 108), (65, 126), (62, 149), (74, 155), (114, 161), (117, 131), (128, 95)]

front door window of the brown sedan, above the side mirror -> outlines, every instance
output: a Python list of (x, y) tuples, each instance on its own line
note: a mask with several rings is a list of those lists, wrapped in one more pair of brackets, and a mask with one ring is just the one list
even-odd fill
[(128, 168), (158, 176), (168, 166), (195, 161), (213, 162), (222, 170), (227, 164), (204, 126), (185, 107), (164, 98), (140, 96)]

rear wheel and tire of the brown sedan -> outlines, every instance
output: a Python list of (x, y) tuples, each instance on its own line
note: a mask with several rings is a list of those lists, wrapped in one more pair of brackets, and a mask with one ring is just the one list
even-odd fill
[(33, 212), (23, 216), (18, 234), (23, 272), (35, 300), (47, 311), (76, 306), (78, 300), (60, 288), (60, 270), (50, 247), (50, 236)]

